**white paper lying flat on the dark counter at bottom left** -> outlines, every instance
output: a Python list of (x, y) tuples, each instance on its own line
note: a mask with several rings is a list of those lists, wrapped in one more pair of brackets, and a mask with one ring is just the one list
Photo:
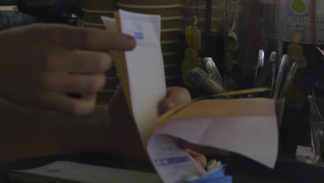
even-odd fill
[[(17, 182), (131, 182), (161, 183), (156, 173), (131, 171), (105, 166), (93, 166), (69, 161), (57, 161), (45, 166), (21, 171), (12, 171), (10, 180)], [(53, 181), (53, 180), (52, 180)]]

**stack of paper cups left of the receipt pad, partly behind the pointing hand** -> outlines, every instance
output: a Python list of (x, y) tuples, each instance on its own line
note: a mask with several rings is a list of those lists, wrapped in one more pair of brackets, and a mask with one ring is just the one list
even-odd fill
[[(114, 17), (118, 10), (116, 0), (86, 0), (82, 7), (83, 27), (105, 28), (101, 16)], [(110, 101), (119, 85), (116, 67), (114, 65), (106, 72), (106, 85), (97, 93), (97, 104), (106, 104)]]

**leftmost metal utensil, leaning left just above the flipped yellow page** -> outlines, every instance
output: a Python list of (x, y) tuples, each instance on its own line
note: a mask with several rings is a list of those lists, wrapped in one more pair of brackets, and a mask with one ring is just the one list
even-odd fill
[(198, 67), (189, 71), (189, 78), (197, 82), (202, 89), (205, 89), (210, 94), (221, 94), (225, 92), (222, 85), (219, 85), (208, 73)]

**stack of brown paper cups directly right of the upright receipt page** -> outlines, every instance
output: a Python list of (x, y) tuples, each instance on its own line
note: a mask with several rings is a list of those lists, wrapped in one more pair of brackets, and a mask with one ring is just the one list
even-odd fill
[(181, 3), (179, 0), (118, 0), (118, 7), (130, 12), (161, 15), (161, 49), (167, 86), (181, 84), (179, 60), (179, 30), (181, 28)]

